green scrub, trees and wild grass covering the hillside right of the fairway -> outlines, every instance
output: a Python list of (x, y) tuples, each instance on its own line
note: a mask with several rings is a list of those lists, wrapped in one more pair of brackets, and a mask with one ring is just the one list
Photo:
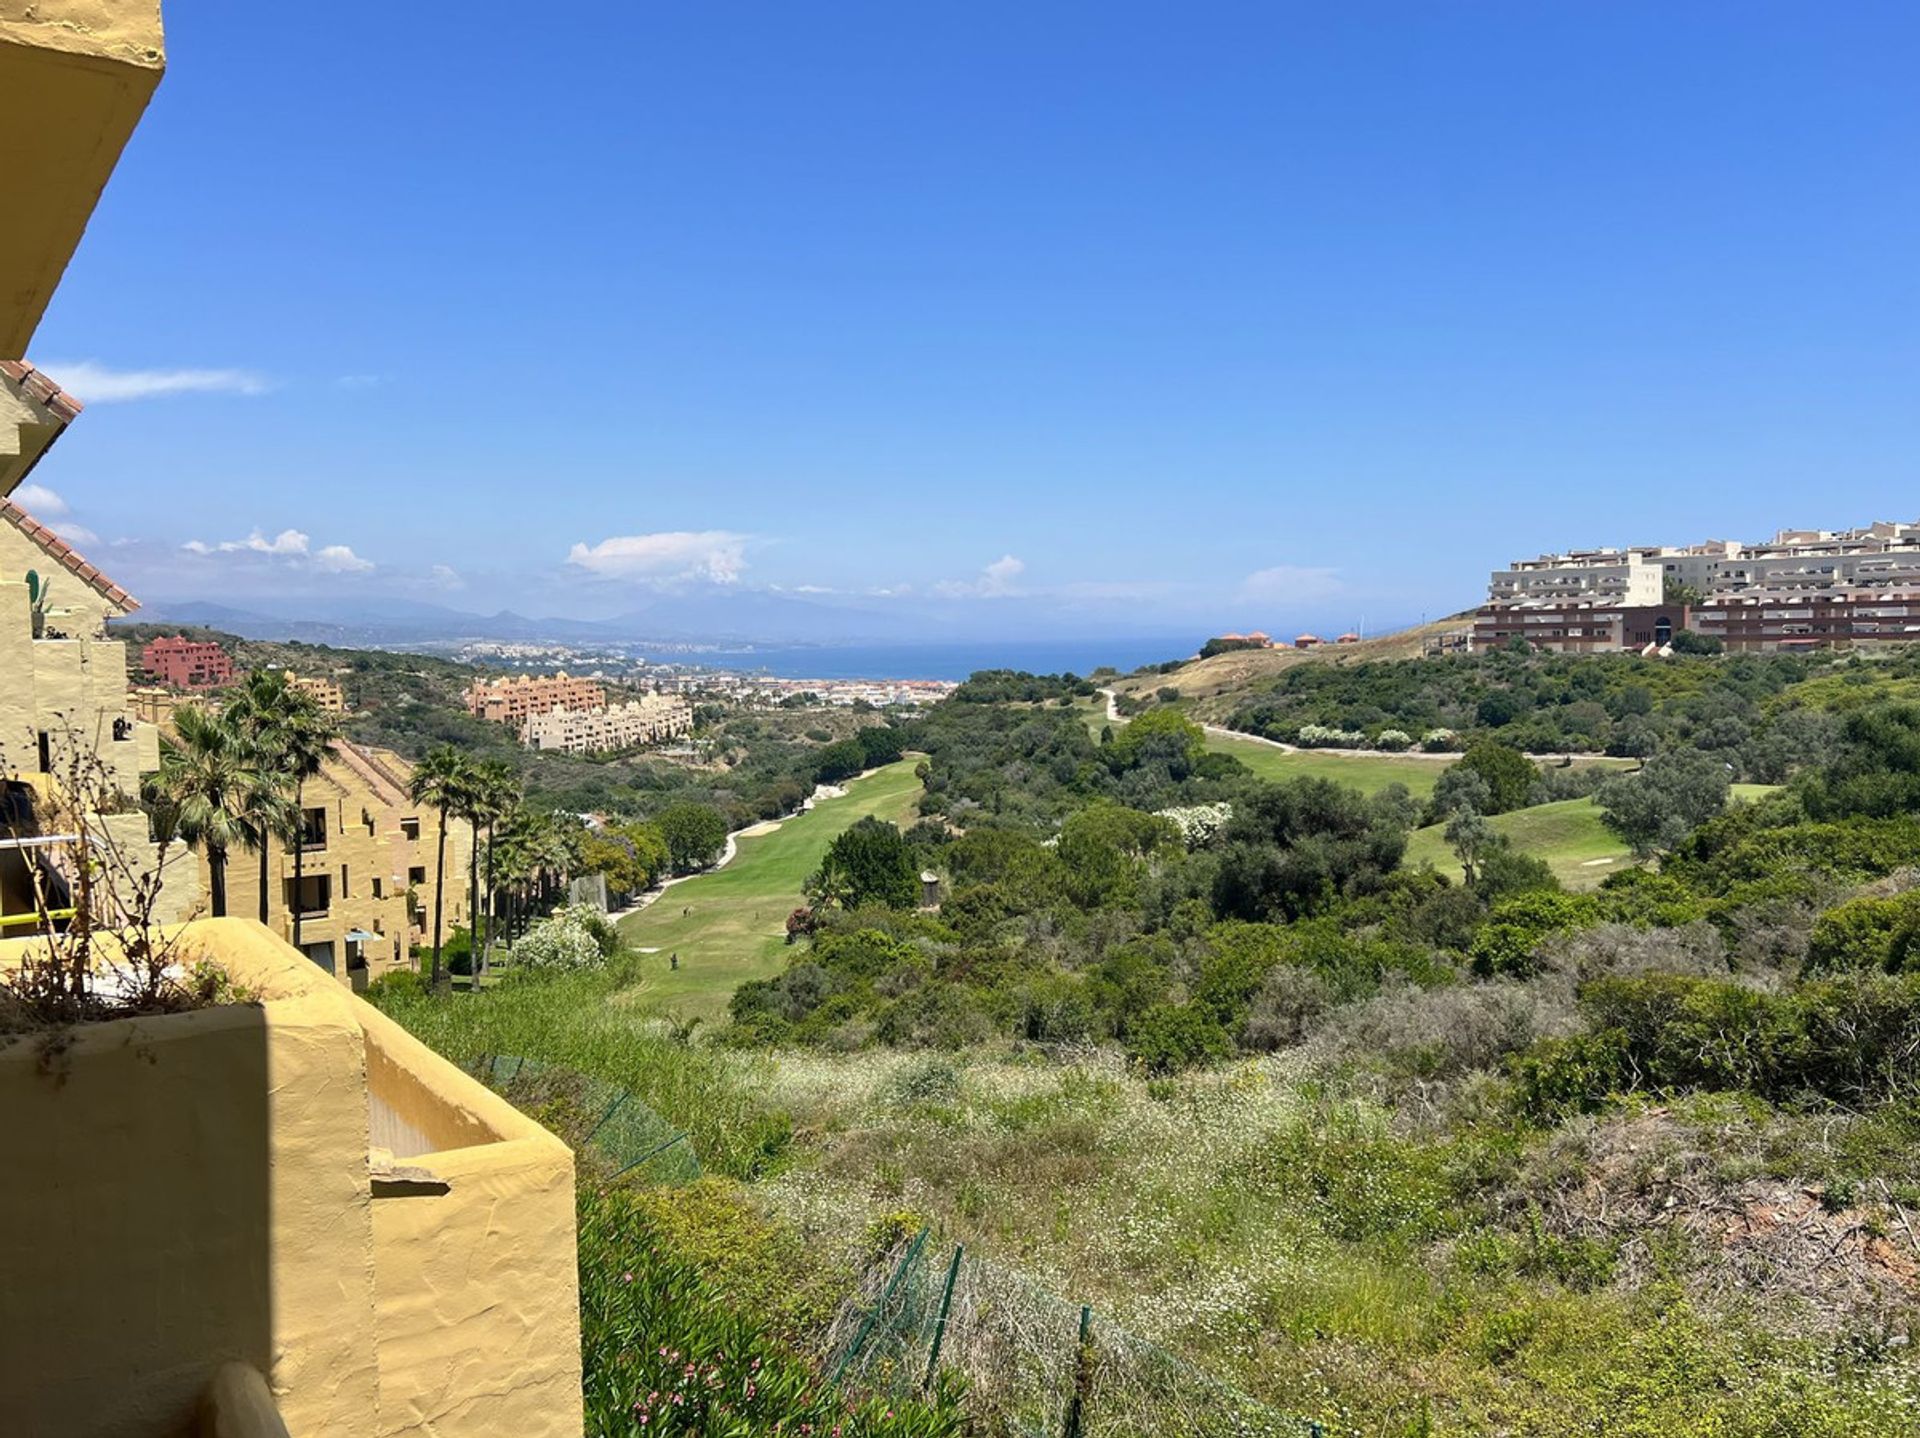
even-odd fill
[[(670, 1021), (670, 956), (636, 952), (390, 1002), (685, 1129), (708, 1177), (660, 1242), (820, 1373), (922, 1227), (1050, 1294), (960, 1319), (981, 1432), (1056, 1426), (1014, 1375), (1079, 1304), (1215, 1382), (1089, 1434), (1242, 1403), (1394, 1438), (1920, 1428), (1914, 660), (1446, 662), (1263, 697), (1455, 720), (1457, 753), (1306, 776), (1183, 695), (1092, 724), (1085, 680), (983, 676), (804, 862), (795, 829), (668, 891), (682, 966), (739, 977), (724, 1018), (716, 985)], [(1622, 733), (1611, 766), (1523, 753)]]

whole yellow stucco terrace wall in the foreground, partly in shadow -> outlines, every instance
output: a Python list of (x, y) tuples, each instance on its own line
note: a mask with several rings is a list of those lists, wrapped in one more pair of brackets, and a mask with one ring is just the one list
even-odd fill
[(263, 1002), (0, 1043), (0, 1426), (171, 1436), (240, 1361), (294, 1438), (580, 1434), (568, 1148), (257, 923), (182, 952)]

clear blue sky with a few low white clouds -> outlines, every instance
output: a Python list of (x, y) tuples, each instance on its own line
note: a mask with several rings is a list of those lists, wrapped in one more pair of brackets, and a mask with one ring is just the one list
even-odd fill
[(1910, 4), (167, 25), (33, 355), (136, 593), (1373, 628), (1920, 513)]

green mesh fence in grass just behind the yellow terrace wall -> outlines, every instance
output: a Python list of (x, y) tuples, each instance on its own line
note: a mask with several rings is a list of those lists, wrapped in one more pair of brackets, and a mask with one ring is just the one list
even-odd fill
[(588, 1158), (609, 1179), (684, 1185), (701, 1177), (687, 1135), (630, 1089), (516, 1054), (482, 1054), (468, 1071)]

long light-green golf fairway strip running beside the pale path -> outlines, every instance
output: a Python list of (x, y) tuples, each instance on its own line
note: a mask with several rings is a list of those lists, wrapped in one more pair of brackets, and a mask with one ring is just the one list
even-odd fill
[[(636, 995), (682, 1018), (716, 1018), (747, 979), (764, 979), (785, 964), (787, 914), (820, 856), (866, 816), (910, 824), (920, 756), (876, 770), (824, 799), (772, 833), (739, 839), (739, 854), (716, 874), (676, 883), (655, 904), (622, 920), (620, 935), (639, 948), (659, 948), (641, 968)], [(680, 954), (680, 968), (668, 964)]]

